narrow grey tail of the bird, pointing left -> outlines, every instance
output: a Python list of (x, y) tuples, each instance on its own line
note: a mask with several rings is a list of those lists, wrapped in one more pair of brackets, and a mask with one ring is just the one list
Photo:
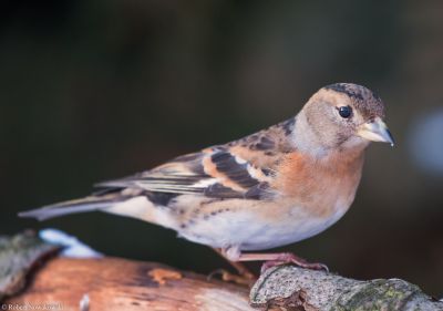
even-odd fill
[(113, 205), (123, 203), (126, 199), (127, 197), (123, 197), (120, 194), (89, 196), (81, 199), (56, 203), (53, 205), (43, 206), (41, 208), (21, 211), (19, 212), (19, 217), (45, 220), (70, 214), (107, 209)]

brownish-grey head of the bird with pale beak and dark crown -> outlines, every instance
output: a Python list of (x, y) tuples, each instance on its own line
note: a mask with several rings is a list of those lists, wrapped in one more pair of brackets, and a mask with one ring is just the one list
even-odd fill
[(364, 147), (370, 141), (394, 144), (383, 122), (383, 102), (361, 85), (336, 83), (320, 89), (298, 117), (303, 118), (300, 129), (309, 133), (311, 143), (326, 149)]

